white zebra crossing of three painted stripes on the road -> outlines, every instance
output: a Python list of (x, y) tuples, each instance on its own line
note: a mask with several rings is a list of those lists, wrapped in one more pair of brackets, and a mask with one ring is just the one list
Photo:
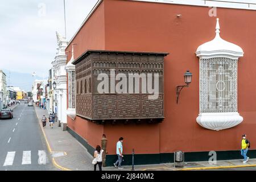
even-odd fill
[[(6, 155), (6, 158), (5, 158), (5, 163), (3, 164), (3, 166), (13, 166), (15, 156), (16, 156), (15, 151), (7, 152), (7, 155)], [(46, 151), (39, 150), (38, 151), (38, 164), (39, 165), (46, 165), (47, 163), (49, 163), (49, 160), (47, 158)], [(22, 165), (32, 164), (31, 151), (23, 151), (22, 163), (21, 164)]]

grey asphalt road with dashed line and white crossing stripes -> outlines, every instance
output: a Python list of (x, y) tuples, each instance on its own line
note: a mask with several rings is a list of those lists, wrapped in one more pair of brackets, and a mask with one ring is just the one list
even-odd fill
[(57, 170), (34, 107), (22, 102), (13, 114), (13, 119), (0, 120), (0, 171)]

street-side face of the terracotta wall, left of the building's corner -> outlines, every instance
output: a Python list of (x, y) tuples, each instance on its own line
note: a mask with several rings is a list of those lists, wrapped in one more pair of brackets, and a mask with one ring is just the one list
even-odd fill
[[(72, 44), (74, 46), (74, 58), (77, 59), (86, 49), (105, 49), (105, 18), (104, 18), (104, 3), (97, 8), (97, 10), (90, 16), (88, 22), (81, 28), (79, 34), (69, 44), (66, 51), (69, 51), (68, 61), (71, 59)], [(67, 95), (68, 97), (68, 95)], [(67, 98), (68, 102), (68, 98)], [(86, 139), (88, 144), (96, 147), (100, 144), (103, 126), (94, 125), (76, 117), (73, 121), (68, 117), (68, 127)]]

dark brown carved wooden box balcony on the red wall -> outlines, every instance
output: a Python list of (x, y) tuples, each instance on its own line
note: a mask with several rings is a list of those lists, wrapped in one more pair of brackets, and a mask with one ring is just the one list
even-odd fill
[[(160, 52), (86, 51), (73, 61), (76, 65), (76, 115), (97, 123), (162, 122), (164, 56), (167, 55)], [(127, 76), (127, 80), (118, 80), (119, 73)], [(129, 74), (135, 73), (141, 77), (137, 80), (130, 78), (133, 80), (131, 86)], [(152, 80), (148, 73), (152, 74)], [(154, 78), (155, 75), (158, 77)], [(105, 79), (108, 79), (108, 85), (102, 86)], [(127, 82), (127, 88), (118, 87), (120, 81)], [(156, 89), (155, 81), (158, 81), (159, 89)], [(146, 93), (143, 92), (145, 86)], [(157, 96), (152, 96), (154, 94), (152, 90), (149, 93), (148, 88), (158, 90), (154, 92)]]

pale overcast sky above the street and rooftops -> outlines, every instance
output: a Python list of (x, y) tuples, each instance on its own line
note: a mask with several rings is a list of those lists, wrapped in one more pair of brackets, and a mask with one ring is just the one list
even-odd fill
[[(97, 0), (65, 0), (70, 40)], [(0, 1), (0, 69), (46, 77), (64, 35), (63, 0)], [(44, 11), (45, 10), (45, 11)]]

